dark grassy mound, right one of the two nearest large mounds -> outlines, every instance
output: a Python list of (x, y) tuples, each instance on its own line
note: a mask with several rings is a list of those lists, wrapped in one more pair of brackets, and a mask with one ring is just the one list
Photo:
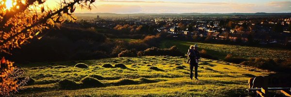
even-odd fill
[(92, 77), (85, 77), (81, 80), (82, 87), (103, 87), (104, 84)]

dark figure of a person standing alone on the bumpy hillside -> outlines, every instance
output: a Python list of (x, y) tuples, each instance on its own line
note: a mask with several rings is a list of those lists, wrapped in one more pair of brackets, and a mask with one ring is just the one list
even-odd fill
[[(192, 80), (193, 79), (193, 68), (195, 65), (195, 60), (197, 59), (195, 51), (194, 51), (194, 46), (190, 46), (190, 49), (188, 49), (187, 55), (190, 58), (189, 59), (190, 60), (190, 79)], [(188, 60), (188, 62), (189, 62), (189, 60)], [(195, 71), (195, 74), (196, 74), (196, 71)]]

